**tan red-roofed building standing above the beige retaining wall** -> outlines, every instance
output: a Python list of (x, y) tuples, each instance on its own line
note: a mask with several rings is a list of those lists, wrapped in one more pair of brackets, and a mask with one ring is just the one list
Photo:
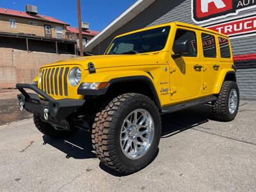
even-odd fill
[[(0, 47), (76, 54), (77, 33), (66, 22), (38, 14), (36, 6), (26, 6), (26, 12), (0, 8)], [(84, 45), (96, 34), (97, 31), (84, 29)]]

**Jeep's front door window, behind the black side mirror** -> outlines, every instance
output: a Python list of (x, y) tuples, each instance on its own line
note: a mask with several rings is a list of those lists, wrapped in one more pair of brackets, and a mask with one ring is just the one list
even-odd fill
[(196, 34), (193, 31), (187, 31), (184, 29), (178, 29), (175, 35), (176, 40), (188, 40), (189, 41), (189, 52), (182, 53), (182, 56), (196, 57), (197, 45), (196, 45)]

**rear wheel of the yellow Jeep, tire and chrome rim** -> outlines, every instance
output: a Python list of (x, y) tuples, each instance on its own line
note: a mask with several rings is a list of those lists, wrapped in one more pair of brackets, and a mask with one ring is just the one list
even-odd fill
[(212, 113), (216, 120), (228, 122), (234, 120), (239, 108), (239, 89), (234, 81), (225, 81), (218, 99), (212, 102)]

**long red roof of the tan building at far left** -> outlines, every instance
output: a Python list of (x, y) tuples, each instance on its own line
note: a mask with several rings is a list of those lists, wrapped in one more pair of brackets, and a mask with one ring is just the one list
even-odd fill
[(0, 14), (12, 15), (12, 16), (16, 16), (16, 17), (24, 17), (24, 18), (29, 18), (29, 19), (36, 19), (36, 20), (46, 20), (48, 22), (55, 22), (55, 23), (58, 23), (58, 24), (63, 24), (63, 25), (69, 26), (68, 23), (63, 22), (63, 21), (58, 20), (58, 19), (55, 19), (54, 17), (39, 15), (39, 14), (33, 16), (33, 15), (29, 15), (26, 12), (20, 12), (20, 11), (17, 11), (17, 10), (9, 10), (9, 9), (6, 9), (6, 8), (0, 8)]

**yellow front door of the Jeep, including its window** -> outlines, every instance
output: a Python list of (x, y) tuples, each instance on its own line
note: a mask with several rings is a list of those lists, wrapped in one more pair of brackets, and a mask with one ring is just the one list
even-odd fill
[(178, 28), (175, 40), (188, 40), (189, 52), (170, 60), (170, 98), (189, 100), (198, 97), (202, 85), (202, 68), (198, 64), (198, 35), (195, 31)]

